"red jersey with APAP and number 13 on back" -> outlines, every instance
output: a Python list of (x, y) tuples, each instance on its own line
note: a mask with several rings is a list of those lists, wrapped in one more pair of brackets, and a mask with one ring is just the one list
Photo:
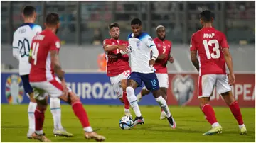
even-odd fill
[(197, 50), (199, 76), (226, 74), (223, 48), (228, 48), (225, 35), (215, 28), (202, 28), (191, 37), (190, 49)]

